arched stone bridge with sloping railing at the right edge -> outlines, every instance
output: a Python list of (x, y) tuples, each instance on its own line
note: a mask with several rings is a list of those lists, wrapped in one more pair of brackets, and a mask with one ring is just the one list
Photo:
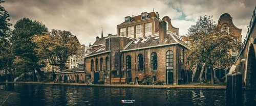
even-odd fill
[[(243, 74), (243, 86), (245, 89), (256, 89), (256, 13), (253, 11), (246, 37), (242, 43), (242, 49), (233, 65), (236, 72)], [(231, 67), (231, 69), (232, 69)], [(232, 70), (230, 70), (232, 71)]]

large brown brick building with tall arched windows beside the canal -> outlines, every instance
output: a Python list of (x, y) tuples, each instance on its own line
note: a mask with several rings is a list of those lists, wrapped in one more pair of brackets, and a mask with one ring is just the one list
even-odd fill
[(166, 84), (187, 82), (187, 47), (169, 17), (161, 20), (158, 13), (143, 12), (124, 20), (117, 25), (117, 35), (96, 38), (93, 51), (84, 58), (86, 82), (102, 79), (111, 84), (112, 78), (125, 78), (128, 84), (142, 80), (144, 75)]

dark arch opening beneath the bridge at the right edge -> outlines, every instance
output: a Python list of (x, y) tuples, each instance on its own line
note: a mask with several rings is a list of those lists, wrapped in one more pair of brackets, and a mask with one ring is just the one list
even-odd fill
[(256, 59), (255, 59), (255, 50), (251, 44), (249, 47), (248, 53), (248, 63), (247, 63), (247, 78), (249, 78), (249, 88), (256, 88)]

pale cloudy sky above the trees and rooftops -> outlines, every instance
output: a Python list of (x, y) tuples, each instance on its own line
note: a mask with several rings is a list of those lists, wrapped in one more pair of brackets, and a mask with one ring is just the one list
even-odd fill
[(195, 1), (105, 1), (105, 0), (6, 0), (1, 4), (11, 15), (11, 23), (23, 17), (41, 21), (48, 29), (70, 31), (79, 42), (88, 45), (96, 36), (117, 34), (117, 24), (125, 16), (140, 15), (142, 12), (169, 16), (181, 35), (198, 20), (199, 16), (214, 16), (218, 22), (223, 13), (233, 17), (233, 23), (242, 29), (243, 38), (256, 6), (254, 0), (195, 0)]

